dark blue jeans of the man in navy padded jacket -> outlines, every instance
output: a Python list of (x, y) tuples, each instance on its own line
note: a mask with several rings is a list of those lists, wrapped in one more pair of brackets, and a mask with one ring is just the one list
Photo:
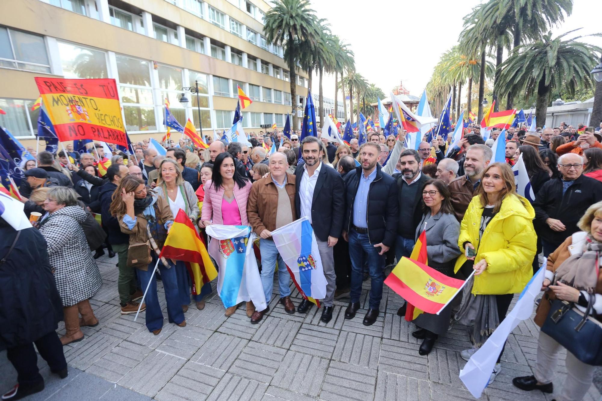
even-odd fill
[(351, 302), (359, 302), (362, 294), (364, 261), (368, 261), (370, 272), (370, 309), (378, 310), (382, 299), (382, 284), (385, 281), (385, 255), (379, 255), (380, 247), (375, 248), (368, 240), (368, 234), (349, 231), (349, 256), (351, 257)]

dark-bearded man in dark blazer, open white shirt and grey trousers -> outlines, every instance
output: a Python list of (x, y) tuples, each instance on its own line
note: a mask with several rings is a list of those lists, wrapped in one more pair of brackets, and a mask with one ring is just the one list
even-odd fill
[[(295, 170), (295, 207), (299, 218), (307, 217), (314, 228), (315, 240), (326, 277), (326, 297), (323, 300), (321, 320), (332, 319), (332, 301), (337, 286), (332, 247), (341, 236), (345, 210), (344, 185), (337, 170), (321, 163), (323, 152), (316, 137), (306, 137), (301, 143), (305, 163)], [(297, 311), (306, 312), (311, 303), (304, 299)]]

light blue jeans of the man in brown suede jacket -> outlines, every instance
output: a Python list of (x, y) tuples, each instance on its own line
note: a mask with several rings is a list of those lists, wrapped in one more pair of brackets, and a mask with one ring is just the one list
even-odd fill
[(291, 282), (291, 275), (288, 274), (287, 265), (284, 264), (282, 256), (278, 253), (274, 241), (260, 238), (259, 253), (261, 253), (261, 284), (264, 287), (265, 302), (270, 303), (270, 299), (272, 299), (276, 261), (278, 261), (278, 290), (280, 291), (280, 297), (289, 296), (291, 289), (288, 286)]

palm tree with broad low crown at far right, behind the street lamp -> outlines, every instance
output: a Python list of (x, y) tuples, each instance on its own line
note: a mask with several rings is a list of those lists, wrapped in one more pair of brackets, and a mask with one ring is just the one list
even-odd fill
[(597, 64), (595, 52), (602, 49), (577, 42), (583, 36), (563, 40), (574, 31), (555, 39), (549, 32), (534, 43), (518, 46), (501, 64), (500, 89), (524, 93), (527, 98), (536, 95), (536, 117), (540, 123), (545, 122), (551, 92), (564, 90), (572, 96), (579, 87), (592, 87), (589, 72)]

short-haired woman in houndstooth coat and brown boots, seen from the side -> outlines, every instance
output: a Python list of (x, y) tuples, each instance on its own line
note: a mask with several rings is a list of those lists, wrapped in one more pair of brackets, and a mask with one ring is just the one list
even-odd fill
[(77, 204), (75, 190), (51, 188), (44, 209), (49, 214), (40, 222), (40, 234), (48, 244), (50, 266), (63, 303), (66, 334), (61, 343), (65, 345), (84, 338), (80, 326), (98, 325), (88, 299), (101, 288), (102, 278), (81, 228), (86, 213)]

